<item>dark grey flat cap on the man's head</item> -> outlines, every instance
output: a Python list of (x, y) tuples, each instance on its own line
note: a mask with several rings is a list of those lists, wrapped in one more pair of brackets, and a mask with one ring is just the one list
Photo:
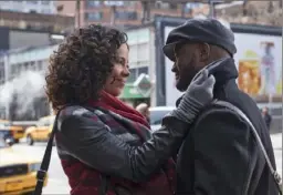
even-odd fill
[(175, 60), (176, 43), (206, 42), (227, 50), (231, 55), (237, 52), (233, 32), (216, 19), (190, 19), (174, 29), (163, 48), (171, 61)]

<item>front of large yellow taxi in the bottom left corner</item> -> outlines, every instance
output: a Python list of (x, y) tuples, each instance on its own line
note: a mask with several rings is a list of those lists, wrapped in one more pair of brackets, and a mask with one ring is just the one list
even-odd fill
[[(6, 142), (7, 141), (7, 142)], [(12, 140), (0, 136), (0, 194), (32, 193), (41, 160), (12, 147)], [(44, 186), (48, 183), (45, 177)]]

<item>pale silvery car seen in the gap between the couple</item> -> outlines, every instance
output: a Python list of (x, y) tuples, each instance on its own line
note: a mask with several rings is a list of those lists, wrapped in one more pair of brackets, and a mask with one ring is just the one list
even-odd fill
[(150, 127), (151, 131), (159, 130), (161, 127), (161, 121), (166, 114), (168, 114), (170, 111), (172, 111), (174, 106), (156, 106), (156, 107), (149, 107), (150, 113)]

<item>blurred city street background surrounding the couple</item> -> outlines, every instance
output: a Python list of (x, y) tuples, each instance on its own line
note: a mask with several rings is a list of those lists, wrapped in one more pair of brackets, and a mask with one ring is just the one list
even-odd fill
[[(7, 174), (0, 177), (0, 194), (27, 187), (17, 166), (33, 157), (39, 160), (32, 167), (40, 163), (46, 143), (36, 141), (49, 138), (54, 120), (44, 92), (50, 55), (75, 28), (88, 24), (114, 25), (127, 33), (130, 75), (119, 99), (133, 107), (148, 104), (156, 120), (150, 119), (153, 130), (181, 95), (175, 88), (172, 62), (163, 53), (168, 33), (191, 18), (216, 18), (230, 28), (238, 49), (233, 59), (239, 89), (251, 95), (259, 109), (269, 107), (271, 138), (282, 175), (282, 16), (281, 0), (0, 1), (0, 136), (14, 136), (12, 148), (22, 151), (12, 158), (10, 153), (0, 156), (0, 176)], [(29, 161), (24, 153), (31, 155)], [(21, 179), (13, 177), (17, 174)], [(14, 185), (10, 185), (11, 178)], [(43, 194), (69, 192), (53, 147)]]

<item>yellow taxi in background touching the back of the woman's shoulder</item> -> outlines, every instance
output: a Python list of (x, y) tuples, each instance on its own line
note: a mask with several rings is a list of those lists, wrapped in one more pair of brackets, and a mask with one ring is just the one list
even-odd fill
[(34, 142), (46, 142), (50, 137), (52, 125), (55, 120), (54, 115), (41, 117), (35, 126), (25, 130), (25, 138), (29, 145)]

